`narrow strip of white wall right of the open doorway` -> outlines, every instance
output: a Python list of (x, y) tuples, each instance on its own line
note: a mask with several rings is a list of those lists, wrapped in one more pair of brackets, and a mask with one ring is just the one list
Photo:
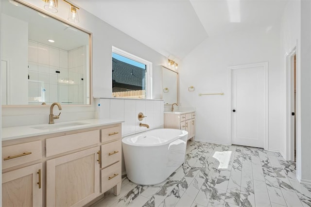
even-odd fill
[[(311, 1), (301, 0), (301, 30), (300, 30), (300, 128), (301, 137), (301, 182), (311, 184)], [(299, 74), (298, 74), (299, 76)], [(297, 89), (299, 90), (299, 88)], [(299, 126), (298, 126), (299, 127)], [(297, 167), (298, 170), (300, 166)]]

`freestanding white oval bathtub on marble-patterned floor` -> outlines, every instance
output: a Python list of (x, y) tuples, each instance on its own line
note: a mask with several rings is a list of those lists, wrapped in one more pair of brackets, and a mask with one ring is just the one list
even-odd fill
[(139, 185), (155, 185), (168, 178), (185, 160), (188, 132), (161, 128), (124, 137), (126, 174)]

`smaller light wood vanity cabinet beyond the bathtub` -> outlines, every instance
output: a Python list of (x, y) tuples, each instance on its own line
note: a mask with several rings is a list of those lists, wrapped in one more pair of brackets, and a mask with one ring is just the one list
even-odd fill
[(195, 136), (195, 112), (164, 113), (164, 128), (178, 128), (188, 131), (188, 140)]

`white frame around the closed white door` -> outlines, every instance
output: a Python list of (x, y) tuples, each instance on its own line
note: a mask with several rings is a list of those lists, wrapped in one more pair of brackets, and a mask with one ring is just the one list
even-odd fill
[(261, 63), (254, 63), (254, 64), (241, 64), (241, 65), (234, 65), (229, 66), (229, 144), (232, 144), (232, 71), (236, 69), (245, 69), (245, 68), (254, 68), (254, 67), (263, 67), (263, 97), (264, 97), (264, 106), (263, 106), (263, 148), (264, 150), (269, 149), (269, 91), (268, 91), (268, 62), (261, 62)]

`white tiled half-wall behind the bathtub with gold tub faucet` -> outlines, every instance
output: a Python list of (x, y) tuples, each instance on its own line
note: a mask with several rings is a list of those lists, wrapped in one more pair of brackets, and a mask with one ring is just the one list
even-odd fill
[[(122, 137), (145, 130), (163, 127), (164, 106), (162, 100), (134, 100), (100, 98), (98, 100), (98, 118), (124, 120), (122, 123)], [(138, 121), (138, 113), (145, 117)], [(139, 123), (148, 124), (150, 128), (139, 127)]]

